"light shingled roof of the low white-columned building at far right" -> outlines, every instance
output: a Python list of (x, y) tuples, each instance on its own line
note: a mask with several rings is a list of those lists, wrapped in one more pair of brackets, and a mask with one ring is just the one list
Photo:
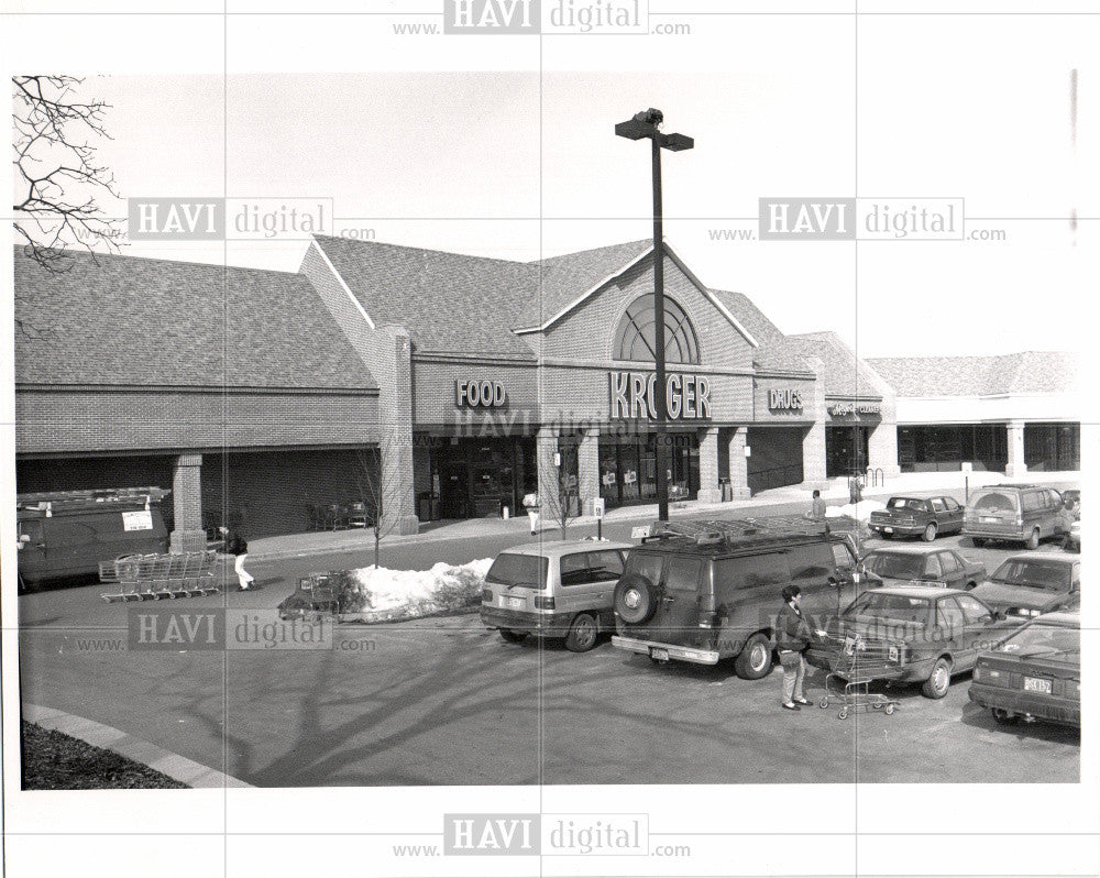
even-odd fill
[(868, 363), (899, 396), (1059, 393), (1078, 385), (1080, 360), (1059, 351), (997, 356), (890, 356)]

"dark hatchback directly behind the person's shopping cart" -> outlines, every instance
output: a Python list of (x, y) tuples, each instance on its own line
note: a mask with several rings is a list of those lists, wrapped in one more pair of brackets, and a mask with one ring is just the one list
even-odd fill
[(853, 673), (855, 655), (872, 679), (919, 682), (925, 696), (942, 699), (953, 674), (970, 670), (982, 649), (1016, 625), (958, 589), (873, 589), (828, 624), (827, 637), (811, 644), (806, 660), (845, 677)]

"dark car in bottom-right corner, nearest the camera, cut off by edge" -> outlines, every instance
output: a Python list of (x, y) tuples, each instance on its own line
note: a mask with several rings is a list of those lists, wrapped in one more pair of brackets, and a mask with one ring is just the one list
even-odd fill
[(970, 701), (1001, 725), (1020, 720), (1081, 724), (1081, 617), (1040, 616), (978, 657)]

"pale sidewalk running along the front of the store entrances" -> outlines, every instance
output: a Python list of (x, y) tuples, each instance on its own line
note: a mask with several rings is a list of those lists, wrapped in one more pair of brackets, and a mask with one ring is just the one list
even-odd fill
[[(1046, 472), (1027, 473), (1024, 479), (1008, 479), (998, 472), (972, 472), (969, 474), (970, 490), (982, 485), (1002, 482), (1072, 482), (1080, 481), (1079, 472)], [(928, 472), (903, 473), (886, 480), (879, 487), (865, 487), (865, 500), (886, 498), (893, 494), (926, 493), (934, 491), (954, 492), (964, 490), (964, 473), (961, 472)], [(847, 480), (837, 479), (833, 484), (822, 490), (822, 496), (829, 505), (843, 505), (848, 502)], [(745, 509), (763, 509), (770, 506), (805, 504), (810, 508), (810, 489), (801, 485), (789, 485), (762, 491), (749, 500), (732, 501), (729, 503), (698, 503), (685, 501), (673, 503), (669, 514), (672, 517), (730, 517), (732, 514)], [(605, 525), (627, 524), (630, 522), (649, 523), (657, 518), (657, 504), (645, 506), (623, 506), (610, 509), (604, 516)], [(596, 519), (585, 515), (570, 522), (570, 527), (594, 527)], [(549, 533), (549, 531), (546, 531)], [(410, 542), (438, 542), (454, 539), (477, 539), (481, 537), (515, 535), (517, 540), (529, 536), (527, 516), (518, 518), (470, 518), (459, 522), (430, 522), (413, 536), (386, 536), (382, 538), (383, 546), (400, 546)], [(552, 539), (553, 537), (548, 537)], [(261, 537), (249, 541), (249, 557), (255, 561), (273, 561), (284, 558), (306, 558), (312, 555), (332, 552), (369, 550), (374, 547), (374, 534), (362, 528), (352, 530), (323, 530), (305, 534), (287, 534), (277, 537)]]

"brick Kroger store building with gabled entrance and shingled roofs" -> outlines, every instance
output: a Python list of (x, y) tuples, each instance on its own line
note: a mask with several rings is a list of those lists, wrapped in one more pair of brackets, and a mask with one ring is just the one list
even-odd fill
[[(920, 419), (920, 363), (784, 334), (671, 248), (664, 282), (674, 501), (926, 467), (911, 428), (985, 441), (949, 400)], [(88, 254), (57, 273), (16, 250), (15, 289), (18, 490), (172, 487), (177, 547), (358, 501), (400, 533), (535, 490), (573, 513), (656, 501), (650, 241), (515, 262), (317, 237), (296, 273)], [(1027, 413), (1004, 420), (1005, 465), (1020, 418), (1075, 462), (1064, 422)]]

